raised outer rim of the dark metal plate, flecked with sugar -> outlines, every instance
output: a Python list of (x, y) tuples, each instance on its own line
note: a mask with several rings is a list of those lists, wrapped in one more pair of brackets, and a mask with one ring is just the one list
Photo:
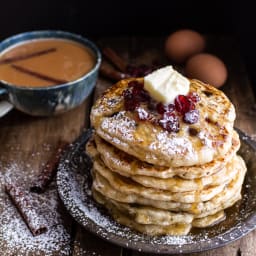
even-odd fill
[[(256, 141), (254, 141), (249, 135), (246, 135), (244, 132), (242, 132), (240, 129), (235, 128), (235, 130), (238, 132), (239, 137), (242, 141), (245, 141), (249, 144), (255, 151), (256, 151)], [(221, 234), (222, 238), (224, 238), (224, 241), (220, 241), (219, 236), (217, 235), (213, 238), (210, 238), (211, 243), (209, 243), (209, 240), (205, 241), (198, 241), (195, 243), (187, 243), (182, 244), (179, 246), (179, 244), (160, 244), (162, 248), (165, 248), (164, 250), (157, 249), (157, 244), (149, 244), (144, 243), (142, 241), (136, 241), (133, 240), (127, 240), (125, 237), (121, 237), (118, 234), (114, 234), (113, 232), (107, 231), (104, 227), (100, 226), (98, 223), (93, 222), (92, 219), (90, 219), (88, 216), (85, 216), (84, 211), (82, 210), (81, 204), (75, 204), (75, 200), (73, 198), (72, 200), (68, 200), (69, 203), (67, 203), (67, 199), (65, 198), (65, 185), (63, 183), (63, 177), (65, 173), (63, 173), (63, 163), (66, 160), (66, 157), (70, 153), (74, 153), (77, 150), (79, 150), (90, 138), (91, 134), (93, 133), (93, 129), (89, 128), (86, 130), (83, 130), (81, 135), (67, 148), (67, 150), (64, 152), (64, 154), (61, 157), (60, 164), (57, 171), (56, 176), (56, 183), (57, 183), (57, 189), (60, 196), (61, 201), (63, 202), (64, 206), (68, 210), (68, 212), (71, 214), (71, 216), (87, 231), (91, 232), (94, 235), (97, 235), (101, 239), (108, 241), (112, 244), (118, 245), (123, 248), (136, 250), (138, 252), (145, 252), (145, 253), (155, 253), (155, 254), (181, 254), (181, 253), (195, 253), (195, 252), (202, 252), (206, 250), (216, 249), (219, 247), (223, 247), (227, 244), (230, 244), (244, 236), (246, 236), (249, 232), (253, 231), (256, 228), (256, 212), (251, 214), (246, 221), (243, 221), (241, 223), (241, 226), (239, 227), (239, 232), (237, 231), (237, 227), (228, 229), (224, 234)], [(72, 151), (71, 151), (72, 150)], [(60, 168), (61, 166), (61, 168)], [(68, 170), (65, 170), (68, 172)], [(69, 198), (70, 199), (70, 198)], [(72, 202), (72, 204), (70, 204)], [(84, 205), (83, 205), (84, 206)], [(83, 218), (86, 219), (86, 225), (84, 224), (83, 219), (81, 218), (81, 215), (77, 214), (77, 212), (80, 212), (80, 214), (83, 214)], [(108, 234), (108, 237), (102, 234), (102, 230), (106, 230), (105, 233)], [(230, 236), (232, 234), (232, 239), (230, 239)], [(145, 236), (145, 235), (144, 235)], [(229, 239), (225, 239), (225, 237), (228, 237)], [(143, 248), (143, 249), (142, 249)]]

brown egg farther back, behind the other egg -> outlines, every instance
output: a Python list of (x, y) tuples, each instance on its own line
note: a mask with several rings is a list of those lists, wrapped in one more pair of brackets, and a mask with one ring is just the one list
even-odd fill
[(204, 48), (204, 37), (189, 29), (174, 32), (165, 42), (166, 55), (177, 63), (185, 62), (192, 55), (202, 52)]

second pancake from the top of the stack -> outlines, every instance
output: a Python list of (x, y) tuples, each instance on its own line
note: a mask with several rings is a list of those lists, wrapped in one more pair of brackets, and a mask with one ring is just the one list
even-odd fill
[[(232, 147), (225, 155), (219, 157), (218, 159), (214, 159), (210, 163), (206, 163), (204, 165), (172, 168), (154, 166), (152, 164), (142, 162), (135, 157), (115, 148), (97, 135), (94, 136), (94, 139), (96, 145), (93, 141), (91, 141), (87, 144), (86, 151), (92, 157), (95, 157), (98, 151), (104, 164), (112, 171), (118, 172), (121, 175), (127, 177), (141, 175), (163, 179), (171, 178), (173, 176), (178, 176), (182, 179), (196, 179), (210, 176), (223, 169), (226, 163), (234, 157), (240, 147), (240, 140), (238, 134), (234, 131)], [(95, 151), (95, 146), (97, 148), (97, 151)]]

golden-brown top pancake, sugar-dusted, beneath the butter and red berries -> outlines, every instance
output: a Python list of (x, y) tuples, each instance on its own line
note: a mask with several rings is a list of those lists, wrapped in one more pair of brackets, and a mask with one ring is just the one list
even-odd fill
[[(196, 92), (201, 98), (196, 105), (200, 119), (189, 125), (180, 118), (179, 132), (168, 132), (159, 125), (139, 121), (132, 111), (125, 111), (122, 92), (131, 80), (135, 79), (122, 80), (109, 88), (93, 106), (91, 122), (101, 138), (158, 166), (201, 165), (228, 152), (232, 145), (235, 110), (223, 92), (191, 80), (190, 92)], [(142, 78), (136, 80), (143, 82)]]

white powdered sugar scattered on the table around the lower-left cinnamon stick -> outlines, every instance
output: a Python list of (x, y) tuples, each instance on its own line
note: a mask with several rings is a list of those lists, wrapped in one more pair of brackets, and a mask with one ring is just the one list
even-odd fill
[[(46, 148), (46, 151), (50, 150), (49, 145)], [(36, 152), (31, 154), (31, 159), (38, 157), (40, 156)], [(55, 184), (51, 184), (49, 189), (42, 195), (31, 193), (31, 196), (37, 203), (36, 209), (47, 220), (48, 227), (46, 233), (33, 236), (21, 218), (20, 213), (5, 193), (4, 183), (6, 179), (11, 177), (12, 180), (18, 180), (19, 183), (22, 183), (24, 188), (28, 188), (37, 170), (33, 170), (33, 161), (31, 163), (12, 161), (11, 163), (4, 164), (5, 159), (1, 158), (1, 160), (0, 248), (4, 251), (4, 255), (26, 256), (33, 254), (50, 256), (56, 255), (56, 253), (58, 255), (70, 255), (70, 231), (64, 224)], [(29, 171), (27, 168), (29, 168)]]

